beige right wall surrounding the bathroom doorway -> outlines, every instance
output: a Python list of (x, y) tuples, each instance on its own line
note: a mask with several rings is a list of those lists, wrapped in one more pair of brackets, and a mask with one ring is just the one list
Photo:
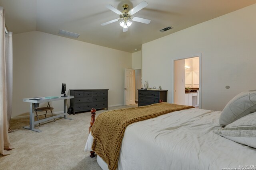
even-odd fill
[(173, 60), (202, 54), (202, 108), (221, 111), (236, 94), (255, 89), (254, 16), (256, 4), (143, 44), (142, 82), (161, 85), (172, 103)]

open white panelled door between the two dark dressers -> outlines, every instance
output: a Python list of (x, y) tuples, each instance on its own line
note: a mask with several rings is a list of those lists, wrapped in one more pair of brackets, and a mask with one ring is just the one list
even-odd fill
[(124, 68), (124, 105), (135, 104), (135, 70)]

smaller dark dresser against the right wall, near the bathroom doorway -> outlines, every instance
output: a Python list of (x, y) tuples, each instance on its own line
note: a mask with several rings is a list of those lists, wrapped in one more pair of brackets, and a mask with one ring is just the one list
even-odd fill
[(159, 103), (160, 100), (167, 102), (168, 90), (138, 90), (138, 106), (146, 106)]

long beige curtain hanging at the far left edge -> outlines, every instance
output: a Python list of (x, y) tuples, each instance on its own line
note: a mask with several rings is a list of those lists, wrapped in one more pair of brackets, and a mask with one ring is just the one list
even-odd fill
[[(11, 115), (12, 103), (12, 33), (6, 35), (4, 23), (4, 8), (0, 6), (0, 154), (10, 154), (13, 149), (8, 135), (8, 117)], [(6, 44), (7, 43), (7, 44)], [(10, 48), (11, 49), (8, 49)], [(10, 59), (11, 58), (11, 59)], [(10, 63), (11, 62), (11, 63)], [(10, 67), (11, 64), (11, 68)], [(10, 77), (9, 77), (10, 76)], [(11, 84), (10, 84), (11, 83)]]

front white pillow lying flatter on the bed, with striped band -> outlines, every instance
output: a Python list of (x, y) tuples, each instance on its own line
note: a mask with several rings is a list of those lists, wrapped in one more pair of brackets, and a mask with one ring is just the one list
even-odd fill
[(214, 133), (231, 141), (256, 148), (256, 112), (246, 115)]

